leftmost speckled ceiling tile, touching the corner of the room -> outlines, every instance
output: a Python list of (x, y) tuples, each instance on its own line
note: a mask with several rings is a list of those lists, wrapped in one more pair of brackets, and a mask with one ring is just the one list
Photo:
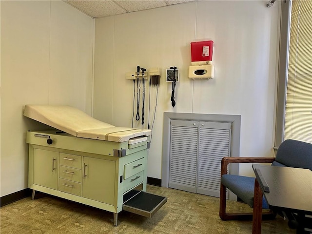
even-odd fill
[(111, 0), (65, 0), (65, 2), (93, 18), (118, 15), (127, 12)]

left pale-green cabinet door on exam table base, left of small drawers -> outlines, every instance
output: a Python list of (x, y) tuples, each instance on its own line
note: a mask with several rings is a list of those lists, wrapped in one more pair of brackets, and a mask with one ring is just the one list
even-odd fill
[(58, 189), (58, 152), (34, 149), (34, 184)]

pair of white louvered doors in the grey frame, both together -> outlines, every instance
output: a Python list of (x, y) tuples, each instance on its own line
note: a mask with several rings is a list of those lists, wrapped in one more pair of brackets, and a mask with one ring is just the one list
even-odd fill
[(171, 120), (169, 187), (219, 197), (231, 129), (228, 122)]

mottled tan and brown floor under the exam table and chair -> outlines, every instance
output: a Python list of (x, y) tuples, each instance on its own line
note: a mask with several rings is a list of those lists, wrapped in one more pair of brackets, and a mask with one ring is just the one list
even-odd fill
[[(147, 192), (168, 197), (151, 217), (126, 211), (118, 214), (38, 194), (0, 209), (1, 234), (251, 234), (252, 221), (222, 221), (219, 198), (148, 185)], [(228, 201), (229, 212), (252, 211), (241, 202)], [(295, 234), (280, 216), (262, 221), (262, 234)]]

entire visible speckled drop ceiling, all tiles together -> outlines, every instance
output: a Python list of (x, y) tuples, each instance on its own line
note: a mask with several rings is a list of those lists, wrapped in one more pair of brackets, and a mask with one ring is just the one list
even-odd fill
[(64, 0), (79, 11), (100, 18), (153, 9), (194, 0)]

